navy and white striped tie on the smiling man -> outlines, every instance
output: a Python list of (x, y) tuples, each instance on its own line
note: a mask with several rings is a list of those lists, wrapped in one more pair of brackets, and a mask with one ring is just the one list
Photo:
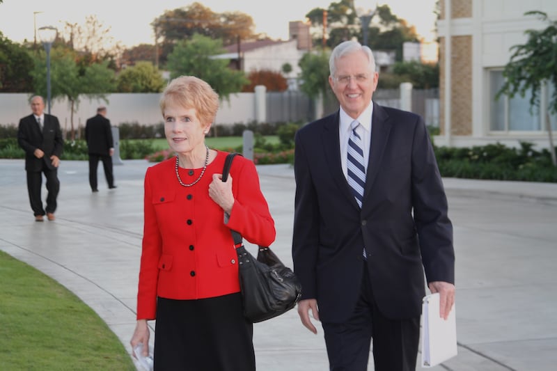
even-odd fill
[(356, 202), (361, 208), (363, 201), (363, 187), (366, 185), (366, 167), (363, 165), (363, 145), (361, 138), (356, 133), (356, 128), (360, 123), (356, 120), (352, 121), (350, 127), (350, 139), (348, 139), (348, 184), (352, 189), (352, 194), (356, 198)]

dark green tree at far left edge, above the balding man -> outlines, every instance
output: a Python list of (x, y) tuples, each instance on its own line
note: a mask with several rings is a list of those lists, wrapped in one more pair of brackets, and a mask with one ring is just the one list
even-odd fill
[(4, 38), (0, 32), (0, 92), (18, 93), (33, 90), (29, 71), (33, 58), (27, 50)]

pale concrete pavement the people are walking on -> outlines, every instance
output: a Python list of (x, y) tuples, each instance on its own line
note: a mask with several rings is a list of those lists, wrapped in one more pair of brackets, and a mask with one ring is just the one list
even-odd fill
[[(87, 162), (63, 161), (56, 221), (36, 223), (27, 198), (24, 161), (0, 159), (0, 249), (72, 290), (130, 352), (143, 175), (150, 165), (132, 160), (115, 166), (118, 188), (112, 190), (100, 171), (100, 191), (92, 194)], [(269, 165), (258, 166), (258, 171), (276, 222), (272, 247), (291, 265), (292, 168)], [(553, 370), (557, 184), (458, 179), (444, 183), (455, 226), (459, 354), (432, 370)], [(320, 326), (314, 336), (301, 326), (295, 310), (254, 329), (258, 370), (328, 369)]]

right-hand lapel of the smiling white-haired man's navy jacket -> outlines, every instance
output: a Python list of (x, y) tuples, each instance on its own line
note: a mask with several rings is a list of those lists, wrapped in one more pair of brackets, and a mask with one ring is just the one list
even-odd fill
[(366, 205), (366, 200), (371, 195), (372, 185), (375, 182), (379, 167), (382, 161), (389, 134), (391, 133), (391, 123), (389, 115), (382, 106), (373, 102), (373, 114), (371, 118), (371, 145), (370, 158), (368, 160), (368, 173), (366, 175), (366, 189), (363, 191), (362, 207)]

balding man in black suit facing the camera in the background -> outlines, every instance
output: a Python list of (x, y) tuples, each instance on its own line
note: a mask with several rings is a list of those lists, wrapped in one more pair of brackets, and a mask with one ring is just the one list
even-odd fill
[[(35, 95), (31, 98), (32, 115), (19, 120), (17, 143), (25, 151), (25, 170), (27, 172), (27, 191), (29, 202), (36, 221), (42, 221), (45, 215), (54, 221), (56, 198), (60, 191), (58, 165), (64, 141), (60, 123), (56, 116), (45, 113), (45, 100)], [(47, 179), (47, 207), (43, 208), (40, 191), (42, 173)]]

